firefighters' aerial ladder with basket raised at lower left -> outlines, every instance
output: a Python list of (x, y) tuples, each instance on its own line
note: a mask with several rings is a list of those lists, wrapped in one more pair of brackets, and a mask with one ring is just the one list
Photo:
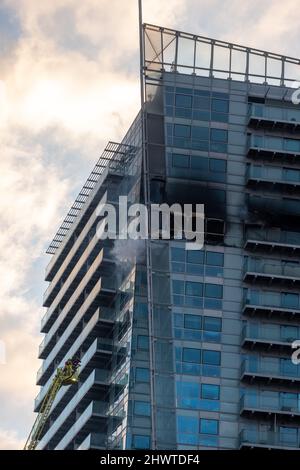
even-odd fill
[(36, 417), (34, 425), (30, 431), (24, 450), (35, 450), (41, 438), (47, 418), (55, 397), (61, 387), (73, 385), (78, 382), (80, 361), (78, 359), (68, 359), (64, 367), (58, 367), (52, 380), (50, 388), (42, 401), (40, 411)]

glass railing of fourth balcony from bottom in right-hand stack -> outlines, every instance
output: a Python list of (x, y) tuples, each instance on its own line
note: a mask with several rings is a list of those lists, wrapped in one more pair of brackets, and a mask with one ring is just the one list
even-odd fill
[(291, 347), (296, 339), (300, 338), (300, 328), (297, 326), (281, 326), (277, 324), (247, 322), (242, 330), (242, 341), (246, 343), (279, 344)]

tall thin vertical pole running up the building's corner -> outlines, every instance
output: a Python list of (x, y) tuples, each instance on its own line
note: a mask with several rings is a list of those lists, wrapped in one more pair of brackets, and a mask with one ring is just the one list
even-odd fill
[(152, 289), (152, 253), (150, 240), (150, 182), (148, 169), (148, 133), (147, 133), (147, 113), (145, 108), (145, 43), (143, 29), (142, 0), (138, 0), (139, 6), (139, 32), (140, 32), (140, 86), (141, 86), (141, 120), (142, 120), (142, 169), (144, 186), (144, 204), (148, 210), (148, 237), (146, 239), (146, 270), (147, 270), (147, 305), (148, 305), (148, 326), (149, 326), (149, 369), (150, 369), (150, 407), (151, 407), (151, 448), (156, 449), (156, 418), (155, 418), (155, 346), (154, 346), (154, 316), (153, 316), (153, 289)]

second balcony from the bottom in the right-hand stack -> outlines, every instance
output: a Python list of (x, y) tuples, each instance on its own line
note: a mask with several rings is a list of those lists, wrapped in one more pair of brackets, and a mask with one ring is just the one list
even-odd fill
[(295, 398), (281, 398), (280, 392), (246, 394), (240, 401), (240, 413), (247, 418), (253, 416), (277, 415), (282, 417), (300, 418), (300, 404), (297, 393)]

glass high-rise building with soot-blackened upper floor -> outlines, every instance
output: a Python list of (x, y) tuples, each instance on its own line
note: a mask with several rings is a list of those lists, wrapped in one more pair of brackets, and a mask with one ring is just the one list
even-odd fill
[[(300, 446), (300, 60), (144, 25), (143, 106), (48, 252), (39, 449)], [(100, 207), (204, 204), (205, 245), (101, 240)]]

